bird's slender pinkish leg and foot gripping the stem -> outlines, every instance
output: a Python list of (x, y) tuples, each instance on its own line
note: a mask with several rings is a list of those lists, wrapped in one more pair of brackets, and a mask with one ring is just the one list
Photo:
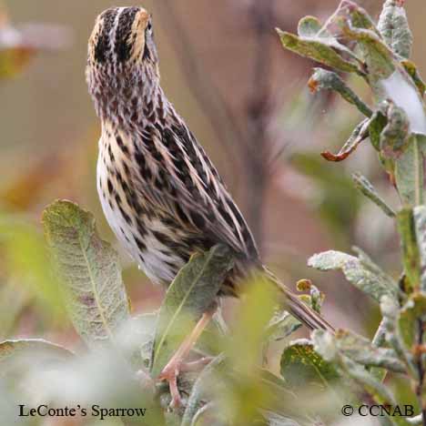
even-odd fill
[[(208, 358), (202, 358), (194, 362), (188, 362), (188, 365), (184, 364), (185, 358), (188, 356), (195, 342), (198, 340), (199, 336), (203, 330), (207, 327), (208, 322), (212, 319), (215, 310), (209, 310), (204, 313), (203, 316), (198, 320), (197, 325), (194, 330), (188, 335), (188, 337), (182, 342), (178, 350), (175, 352), (173, 357), (167, 362), (166, 367), (161, 371), (158, 376), (159, 380), (167, 380), (168, 386), (170, 387), (170, 394), (172, 396), (171, 406), (178, 407), (181, 405), (180, 394), (177, 389), (177, 376), (181, 370), (194, 370), (196, 365), (206, 365), (208, 364)], [(188, 368), (187, 368), (188, 367)]]

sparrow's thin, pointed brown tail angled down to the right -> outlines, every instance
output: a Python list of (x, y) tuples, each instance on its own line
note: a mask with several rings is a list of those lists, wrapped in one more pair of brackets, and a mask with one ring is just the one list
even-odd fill
[(263, 267), (267, 278), (282, 291), (286, 298), (286, 309), (297, 320), (307, 326), (310, 330), (326, 330), (335, 333), (334, 327), (314, 309), (292, 293), (275, 275), (266, 267)]

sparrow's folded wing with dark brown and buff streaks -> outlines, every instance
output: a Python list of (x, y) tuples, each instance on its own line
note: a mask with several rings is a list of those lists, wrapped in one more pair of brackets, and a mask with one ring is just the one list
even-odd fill
[(139, 139), (137, 188), (147, 205), (155, 206), (158, 216), (177, 220), (189, 234), (258, 259), (249, 226), (188, 127), (183, 122), (150, 127)]

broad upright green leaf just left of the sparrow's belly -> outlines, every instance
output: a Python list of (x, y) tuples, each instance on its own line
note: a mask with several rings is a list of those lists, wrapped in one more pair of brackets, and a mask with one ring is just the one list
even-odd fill
[(77, 332), (89, 345), (115, 341), (129, 318), (116, 251), (97, 236), (92, 214), (70, 201), (46, 208), (43, 225)]

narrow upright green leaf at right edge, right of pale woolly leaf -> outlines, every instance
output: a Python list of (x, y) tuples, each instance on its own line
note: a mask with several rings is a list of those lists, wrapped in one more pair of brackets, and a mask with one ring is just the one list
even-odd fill
[(420, 286), (421, 258), (416, 238), (416, 228), (411, 208), (402, 208), (397, 215), (398, 230), (401, 236), (404, 271), (411, 289)]

